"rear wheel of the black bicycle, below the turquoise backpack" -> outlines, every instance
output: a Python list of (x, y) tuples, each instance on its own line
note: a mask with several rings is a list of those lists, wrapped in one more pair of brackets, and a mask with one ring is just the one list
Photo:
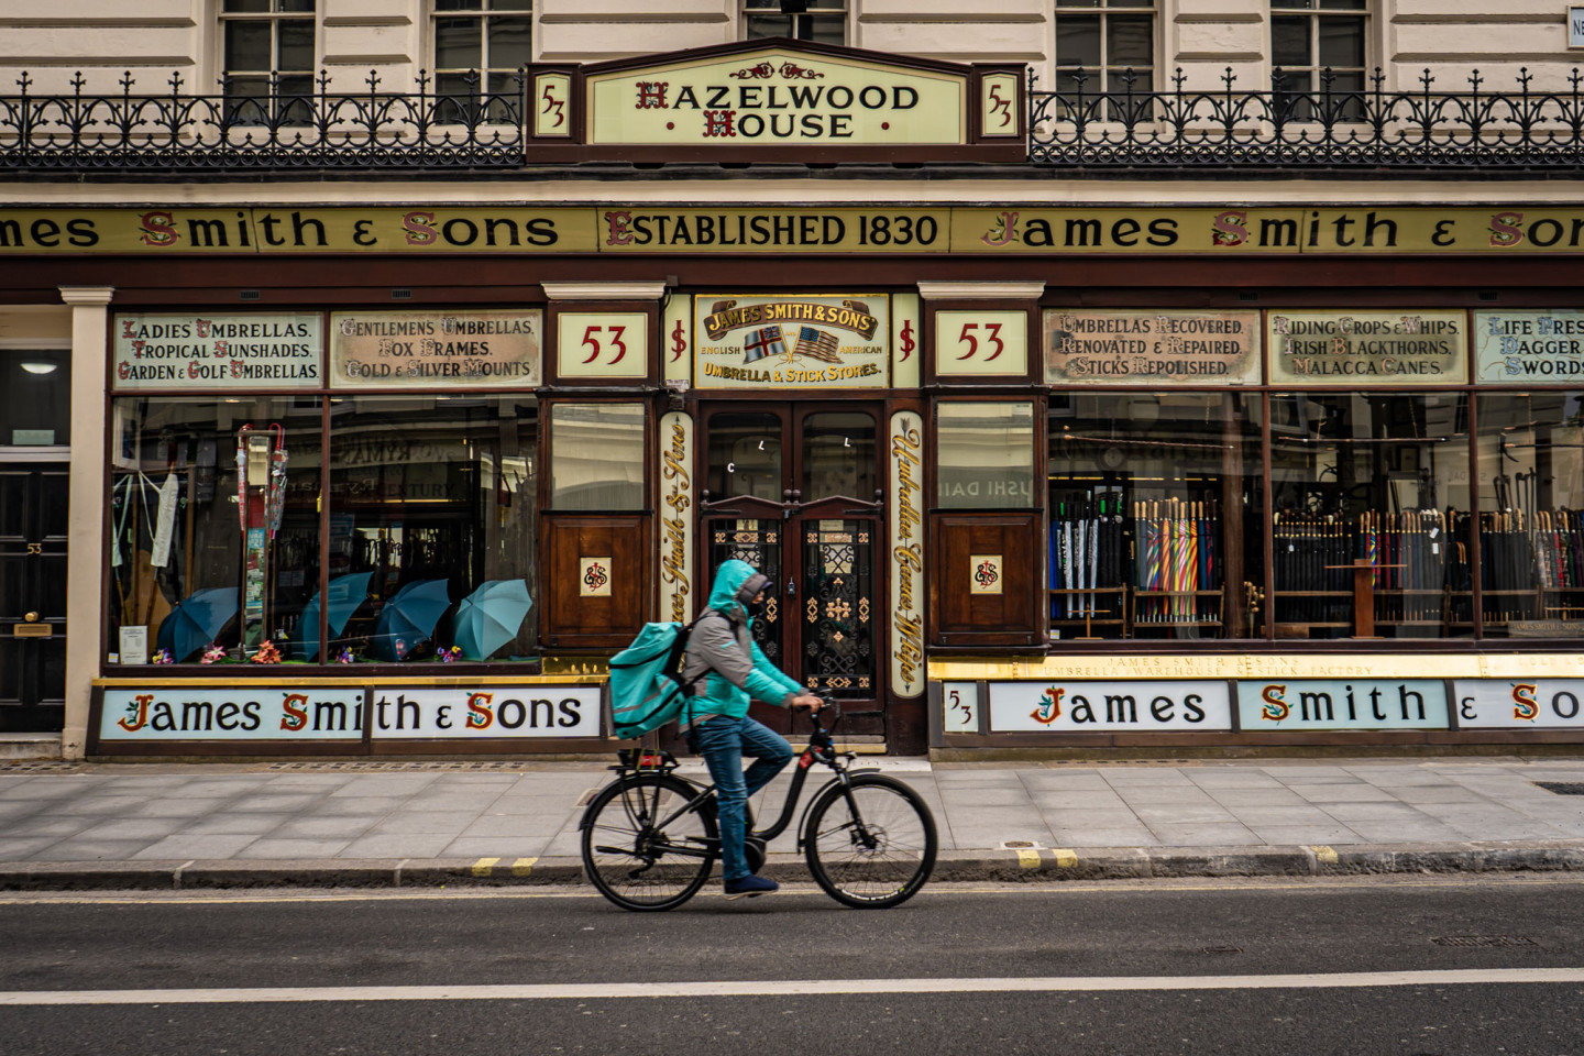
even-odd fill
[(659, 910), (703, 887), (719, 847), (714, 812), (672, 817), (695, 795), (670, 774), (627, 776), (600, 788), (583, 815), (583, 871), (600, 895), (623, 909)]

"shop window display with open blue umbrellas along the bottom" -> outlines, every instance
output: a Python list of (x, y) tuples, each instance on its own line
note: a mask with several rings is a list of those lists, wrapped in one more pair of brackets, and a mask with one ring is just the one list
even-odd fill
[(325, 418), (318, 396), (116, 399), (120, 663), (532, 655), (534, 397), (331, 399), (328, 492)]

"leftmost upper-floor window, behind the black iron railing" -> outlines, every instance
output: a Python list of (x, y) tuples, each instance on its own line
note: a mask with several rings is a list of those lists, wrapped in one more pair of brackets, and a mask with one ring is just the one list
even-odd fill
[(236, 123), (310, 123), (315, 30), (315, 0), (222, 0), (220, 84)]

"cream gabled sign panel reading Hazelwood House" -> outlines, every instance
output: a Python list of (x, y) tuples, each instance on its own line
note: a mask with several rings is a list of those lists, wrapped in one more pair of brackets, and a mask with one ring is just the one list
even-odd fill
[(968, 138), (965, 78), (765, 47), (588, 78), (589, 142), (919, 146)]

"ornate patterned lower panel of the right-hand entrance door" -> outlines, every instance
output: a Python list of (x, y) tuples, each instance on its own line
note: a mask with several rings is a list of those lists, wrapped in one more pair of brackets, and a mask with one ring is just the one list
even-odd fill
[(836, 698), (874, 698), (874, 521), (805, 521), (803, 684)]

